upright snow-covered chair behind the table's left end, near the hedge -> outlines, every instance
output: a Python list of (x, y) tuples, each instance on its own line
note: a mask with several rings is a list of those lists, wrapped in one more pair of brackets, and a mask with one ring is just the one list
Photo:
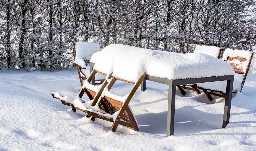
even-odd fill
[[(75, 53), (75, 61), (74, 65), (77, 67), (79, 80), (81, 86), (83, 86), (83, 81), (86, 79), (85, 71), (86, 65), (90, 62), (92, 55), (101, 50), (101, 46), (99, 42), (76, 42), (73, 43), (73, 50)], [(99, 85), (103, 82), (103, 80), (95, 80), (100, 81), (99, 83), (95, 83)]]

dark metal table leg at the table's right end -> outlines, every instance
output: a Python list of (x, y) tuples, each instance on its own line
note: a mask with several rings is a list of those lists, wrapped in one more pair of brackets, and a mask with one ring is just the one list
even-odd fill
[(228, 122), (229, 122), (230, 108), (231, 108), (231, 98), (232, 98), (232, 91), (233, 91), (233, 81), (234, 81), (234, 79), (227, 80), (227, 88), (226, 88), (225, 107), (224, 107), (222, 128), (226, 127), (228, 125)]

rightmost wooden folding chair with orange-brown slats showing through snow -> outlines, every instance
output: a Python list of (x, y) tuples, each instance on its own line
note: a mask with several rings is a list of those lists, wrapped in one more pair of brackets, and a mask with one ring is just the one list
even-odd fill
[[(227, 49), (226, 49), (227, 50)], [(233, 67), (233, 69), (235, 70), (235, 79), (234, 79), (234, 84), (233, 85), (241, 85), (241, 88), (240, 89), (233, 89), (233, 93), (236, 93), (237, 91), (242, 91), (242, 88), (244, 86), (244, 82), (245, 82), (245, 79), (246, 79), (246, 76), (249, 72), (249, 69), (250, 69), (250, 65), (251, 65), (251, 62), (252, 62), (252, 57), (253, 57), (253, 52), (248, 52), (248, 51), (245, 51), (245, 50), (232, 50), (232, 51), (240, 51), (240, 53), (246, 53), (248, 54), (248, 56), (250, 56), (249, 58), (244, 58), (244, 57), (230, 57), (229, 55), (229, 52), (227, 51), (224, 51), (224, 54), (223, 56), (228, 56), (227, 58), (223, 58), (224, 61), (228, 62), (231, 64), (231, 66)], [(236, 61), (235, 61), (236, 60)], [(235, 61), (235, 63), (234, 63)], [(244, 70), (243, 66), (240, 66), (239, 64), (243, 64), (243, 63), (246, 63), (247, 61), (247, 64), (245, 64), (246, 66), (246, 69)], [(236, 63), (239, 63), (239, 64), (236, 64)], [(244, 72), (245, 71), (245, 72)], [(243, 75), (243, 76), (239, 76), (239, 75)], [(236, 79), (236, 77), (243, 77), (242, 79)], [(224, 82), (224, 81), (222, 81)], [(236, 83), (235, 83), (236, 82)], [(217, 91), (217, 90), (213, 90), (213, 88), (205, 88), (203, 87), (204, 84), (198, 84), (198, 88), (203, 90), (204, 94), (206, 94), (206, 96), (209, 98), (210, 101), (212, 101), (212, 96), (211, 95), (215, 95), (215, 96), (219, 96), (219, 97), (224, 97), (226, 96), (226, 93), (225, 93), (225, 90), (223, 91)], [(234, 87), (233, 87), (234, 88)]]

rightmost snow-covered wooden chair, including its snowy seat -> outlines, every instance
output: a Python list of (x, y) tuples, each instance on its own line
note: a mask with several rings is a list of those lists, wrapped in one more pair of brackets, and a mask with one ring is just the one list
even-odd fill
[[(242, 91), (247, 73), (249, 72), (252, 56), (253, 52), (245, 50), (233, 50), (228, 48), (224, 51), (222, 60), (230, 63), (235, 70), (233, 93)], [(226, 81), (198, 83), (197, 87), (203, 90), (204, 94), (206, 94), (210, 101), (212, 101), (211, 95), (225, 98)]]

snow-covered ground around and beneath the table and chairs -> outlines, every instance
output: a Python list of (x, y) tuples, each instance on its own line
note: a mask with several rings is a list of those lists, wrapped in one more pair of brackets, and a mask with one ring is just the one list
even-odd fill
[[(87, 72), (88, 73), (88, 72)], [(113, 93), (132, 85), (118, 82)], [(256, 75), (248, 74), (242, 92), (232, 98), (230, 122), (222, 127), (224, 99), (210, 102), (202, 93), (178, 90), (174, 136), (166, 138), (168, 86), (147, 81), (131, 108), (140, 132), (111, 123), (93, 123), (52, 98), (56, 91), (75, 96), (80, 83), (76, 68), (58, 72), (0, 71), (0, 150), (255, 150)], [(84, 100), (88, 98), (83, 97)]]

